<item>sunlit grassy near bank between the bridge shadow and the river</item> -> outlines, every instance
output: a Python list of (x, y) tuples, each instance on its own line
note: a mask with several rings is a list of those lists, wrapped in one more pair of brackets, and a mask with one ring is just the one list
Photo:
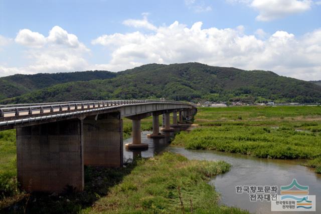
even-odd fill
[[(224, 161), (188, 160), (166, 152), (141, 159), (122, 182), (85, 213), (247, 213), (218, 205), (209, 177), (228, 171)], [(184, 211), (183, 211), (184, 210)]]

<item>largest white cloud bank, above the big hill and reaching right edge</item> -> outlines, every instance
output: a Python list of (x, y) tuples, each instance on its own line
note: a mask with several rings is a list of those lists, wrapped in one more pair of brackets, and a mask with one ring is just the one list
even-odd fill
[(199, 61), (243, 69), (266, 69), (301, 79), (321, 79), (321, 29), (297, 38), (286, 31), (268, 35), (262, 29), (244, 34), (244, 26), (219, 29), (191, 27), (175, 21), (153, 33), (140, 31), (105, 34), (92, 44), (111, 52), (109, 63), (95, 65), (113, 71), (145, 63)]

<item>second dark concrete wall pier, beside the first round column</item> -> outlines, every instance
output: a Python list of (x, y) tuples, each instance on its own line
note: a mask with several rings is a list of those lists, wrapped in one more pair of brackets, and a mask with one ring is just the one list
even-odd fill
[(119, 112), (86, 117), (83, 139), (85, 165), (122, 167), (122, 119)]

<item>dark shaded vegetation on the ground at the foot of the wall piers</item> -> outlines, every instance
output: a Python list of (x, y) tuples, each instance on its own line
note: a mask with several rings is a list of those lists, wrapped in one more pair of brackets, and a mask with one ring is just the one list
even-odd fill
[(79, 213), (81, 209), (92, 206), (100, 197), (107, 195), (110, 188), (120, 183), (134, 167), (135, 164), (127, 164), (123, 168), (85, 166), (83, 192), (74, 192), (72, 187), (66, 187), (60, 194), (27, 194), (16, 190), (11, 195), (0, 196), (0, 213)]

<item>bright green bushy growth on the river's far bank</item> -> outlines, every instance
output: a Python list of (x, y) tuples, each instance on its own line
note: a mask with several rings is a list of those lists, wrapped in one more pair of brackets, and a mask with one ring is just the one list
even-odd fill
[(311, 159), (321, 155), (321, 136), (291, 127), (222, 125), (176, 135), (173, 144), (190, 149), (213, 149), (257, 157)]

